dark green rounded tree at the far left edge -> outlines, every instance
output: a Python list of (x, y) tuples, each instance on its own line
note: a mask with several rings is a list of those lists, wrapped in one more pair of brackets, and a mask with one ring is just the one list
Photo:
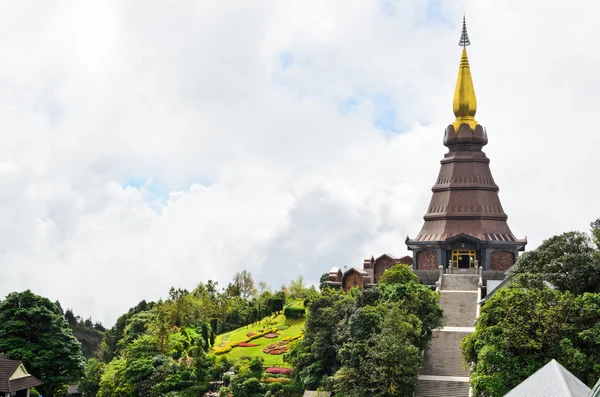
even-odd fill
[(83, 375), (81, 344), (58, 307), (30, 290), (10, 293), (0, 302), (0, 351), (23, 360), (40, 378), (43, 395), (58, 396)]

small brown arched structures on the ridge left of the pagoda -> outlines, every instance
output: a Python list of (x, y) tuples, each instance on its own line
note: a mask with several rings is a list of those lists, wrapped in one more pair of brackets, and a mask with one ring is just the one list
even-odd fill
[(383, 254), (377, 259), (371, 256), (363, 261), (363, 267), (351, 267), (342, 271), (339, 267), (333, 267), (329, 271), (328, 284), (334, 288), (348, 291), (353, 287), (360, 289), (369, 288), (379, 283), (383, 272), (398, 264), (412, 266), (412, 257), (404, 256), (396, 258), (390, 254)]

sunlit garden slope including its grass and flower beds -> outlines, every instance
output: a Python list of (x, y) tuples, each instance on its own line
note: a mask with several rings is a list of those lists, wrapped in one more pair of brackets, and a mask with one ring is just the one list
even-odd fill
[[(296, 301), (293, 303), (293, 306), (303, 307), (303, 303), (302, 301)], [(260, 356), (264, 359), (265, 366), (286, 366), (283, 361), (283, 355), (285, 353), (284, 350), (287, 349), (284, 348), (291, 341), (302, 337), (305, 321), (305, 318), (288, 320), (283, 314), (274, 314), (265, 317), (260, 323), (240, 327), (218, 335), (215, 339), (214, 352), (219, 354), (220, 351), (227, 351), (231, 347), (230, 351), (223, 353), (231, 360), (237, 361), (245, 356)], [(261, 336), (262, 334), (266, 336)], [(250, 340), (250, 338), (254, 339)], [(237, 345), (244, 341), (257, 346), (243, 347)], [(271, 350), (272, 352), (267, 353), (263, 351), (264, 349)], [(275, 351), (273, 352), (273, 350)]]

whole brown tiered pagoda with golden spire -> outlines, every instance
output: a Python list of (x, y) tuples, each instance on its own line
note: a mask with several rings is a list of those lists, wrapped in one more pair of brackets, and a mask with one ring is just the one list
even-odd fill
[(481, 150), (488, 136), (475, 120), (477, 99), (466, 48), (470, 44), (463, 18), (459, 42), (462, 56), (453, 102), (456, 120), (444, 132), (448, 153), (441, 160), (440, 173), (431, 189), (425, 223), (417, 237), (406, 238), (415, 270), (481, 266), (484, 270), (504, 271), (527, 244), (526, 239), (515, 238), (508, 227), (490, 160)]

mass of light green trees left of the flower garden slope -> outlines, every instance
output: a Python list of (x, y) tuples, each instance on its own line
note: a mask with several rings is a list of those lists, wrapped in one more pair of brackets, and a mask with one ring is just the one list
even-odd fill
[[(216, 332), (240, 329), (283, 309), (284, 293), (273, 294), (263, 285), (259, 294), (248, 272), (238, 274), (233, 285), (239, 291), (235, 297), (229, 295), (231, 288), (218, 291), (212, 281), (198, 284), (191, 292), (171, 288), (167, 300), (142, 301), (119, 317), (104, 334), (103, 363), (91, 361), (86, 368), (82, 384), (87, 395), (201, 394), (198, 391), (206, 390), (209, 381), (220, 379), (232, 365), (227, 357), (207, 354), (217, 342)], [(259, 379), (263, 362), (259, 357), (249, 360), (243, 371), (245, 381)], [(252, 384), (241, 382), (237, 386), (252, 394)]]

